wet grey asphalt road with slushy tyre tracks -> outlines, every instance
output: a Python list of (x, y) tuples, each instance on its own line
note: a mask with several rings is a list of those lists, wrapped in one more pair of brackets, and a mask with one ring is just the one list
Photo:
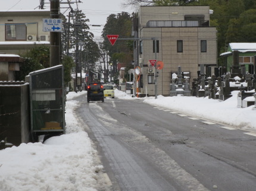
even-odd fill
[(256, 136), (142, 100), (76, 99), (112, 190), (255, 190)]

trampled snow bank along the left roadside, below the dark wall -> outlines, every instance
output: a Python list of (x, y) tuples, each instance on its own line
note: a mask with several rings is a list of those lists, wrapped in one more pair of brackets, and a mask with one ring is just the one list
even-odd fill
[(97, 153), (74, 116), (77, 101), (71, 100), (84, 93), (67, 95), (67, 134), (0, 151), (0, 190), (96, 190), (95, 171), (103, 167), (93, 164)]

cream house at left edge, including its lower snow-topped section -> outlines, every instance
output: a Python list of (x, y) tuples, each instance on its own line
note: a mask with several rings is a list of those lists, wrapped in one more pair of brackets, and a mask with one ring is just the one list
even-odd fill
[(43, 31), (43, 18), (50, 11), (0, 10), (0, 81), (15, 81), (15, 71), (20, 70), (20, 56), (36, 46), (49, 46), (49, 31)]

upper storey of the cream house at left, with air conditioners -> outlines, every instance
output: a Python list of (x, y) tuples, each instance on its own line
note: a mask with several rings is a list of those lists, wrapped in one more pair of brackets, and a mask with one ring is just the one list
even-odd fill
[(0, 10), (0, 52), (18, 54), (41, 44), (49, 46), (43, 18), (50, 18), (50, 10)]

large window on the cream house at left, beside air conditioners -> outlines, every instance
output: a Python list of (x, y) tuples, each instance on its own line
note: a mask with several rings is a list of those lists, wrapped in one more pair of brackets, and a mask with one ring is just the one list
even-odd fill
[(26, 25), (5, 24), (5, 40), (26, 40)]

